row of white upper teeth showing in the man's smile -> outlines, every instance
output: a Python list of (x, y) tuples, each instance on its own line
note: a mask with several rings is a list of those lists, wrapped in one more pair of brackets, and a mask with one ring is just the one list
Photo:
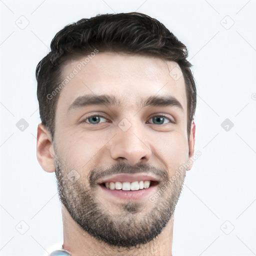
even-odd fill
[(122, 190), (139, 190), (139, 189), (143, 189), (143, 188), (148, 188), (150, 186), (150, 181), (146, 180), (140, 180), (140, 181), (132, 181), (132, 182), (120, 182), (120, 181), (116, 181), (116, 182), (106, 182), (105, 183), (106, 188), (108, 189), (122, 189)]

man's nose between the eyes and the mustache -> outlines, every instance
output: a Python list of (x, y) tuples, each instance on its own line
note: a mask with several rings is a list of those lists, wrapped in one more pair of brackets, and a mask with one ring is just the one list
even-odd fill
[(147, 144), (148, 137), (145, 136), (142, 124), (131, 123), (126, 131), (120, 127), (116, 127), (116, 135), (111, 140), (111, 157), (114, 160), (126, 159), (130, 165), (146, 163), (152, 151)]

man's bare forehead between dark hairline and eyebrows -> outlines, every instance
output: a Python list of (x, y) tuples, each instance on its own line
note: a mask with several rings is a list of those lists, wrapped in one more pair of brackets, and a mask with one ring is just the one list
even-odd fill
[(172, 95), (186, 116), (186, 92), (182, 72), (176, 62), (161, 58), (100, 52), (70, 60), (62, 69), (65, 86), (57, 109), (67, 111), (70, 104), (85, 94), (111, 94), (123, 108), (138, 108), (141, 98)]

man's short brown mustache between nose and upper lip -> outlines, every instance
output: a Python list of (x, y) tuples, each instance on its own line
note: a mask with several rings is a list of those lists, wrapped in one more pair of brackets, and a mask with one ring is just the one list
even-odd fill
[(120, 173), (140, 173), (140, 172), (156, 176), (159, 182), (168, 181), (169, 179), (168, 173), (165, 169), (155, 167), (151, 164), (148, 164), (148, 165), (139, 164), (136, 166), (130, 166), (120, 161), (106, 168), (95, 167), (91, 169), (88, 174), (88, 182), (90, 186), (95, 186), (99, 179), (109, 175), (120, 174)]

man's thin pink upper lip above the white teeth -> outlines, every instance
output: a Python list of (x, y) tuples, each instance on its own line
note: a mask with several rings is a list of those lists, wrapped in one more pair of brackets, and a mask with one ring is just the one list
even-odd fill
[(148, 175), (148, 174), (132, 174), (132, 173), (120, 173), (120, 174), (115, 174), (108, 176), (107, 178), (100, 179), (98, 184), (101, 183), (106, 183), (106, 182), (116, 182), (116, 181), (127, 181), (127, 182), (132, 182), (132, 181), (145, 181), (145, 180), (155, 180), (158, 181), (157, 178), (154, 176)]

